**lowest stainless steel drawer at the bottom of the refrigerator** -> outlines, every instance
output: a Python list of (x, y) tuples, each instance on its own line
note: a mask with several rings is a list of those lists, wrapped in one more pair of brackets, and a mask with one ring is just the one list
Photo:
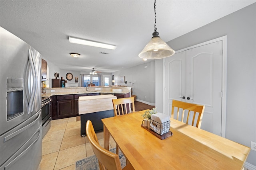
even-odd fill
[(41, 159), (42, 127), (40, 126), (27, 143), (0, 166), (0, 170), (36, 170)]

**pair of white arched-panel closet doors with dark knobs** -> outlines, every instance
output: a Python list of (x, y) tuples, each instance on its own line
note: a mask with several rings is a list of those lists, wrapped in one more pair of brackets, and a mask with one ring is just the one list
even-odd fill
[[(181, 66), (178, 61), (182, 63), (184, 58)], [(221, 135), (222, 41), (177, 53), (164, 66), (165, 114), (171, 113), (172, 99), (205, 105), (201, 129)], [(185, 100), (180, 98), (183, 96)]]

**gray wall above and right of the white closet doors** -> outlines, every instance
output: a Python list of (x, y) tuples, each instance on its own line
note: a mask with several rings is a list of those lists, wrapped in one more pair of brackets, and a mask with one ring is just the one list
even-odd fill
[[(224, 35), (227, 35), (226, 138), (250, 147), (251, 141), (256, 142), (256, 3), (169, 41), (168, 45), (177, 51)], [(162, 67), (156, 66), (156, 74), (161, 72)], [(156, 88), (158, 93), (163, 94), (161, 88)], [(156, 101), (163, 98), (156, 97)], [(256, 166), (256, 151), (250, 151), (246, 162)]]

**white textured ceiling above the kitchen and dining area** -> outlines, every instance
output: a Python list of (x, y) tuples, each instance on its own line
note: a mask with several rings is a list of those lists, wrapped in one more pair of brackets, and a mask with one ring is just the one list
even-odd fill
[[(254, 2), (157, 0), (157, 31), (167, 42)], [(154, 32), (154, 0), (1, 0), (0, 26), (61, 69), (114, 72), (144, 63), (138, 54)], [(117, 48), (72, 44), (69, 36)], [(72, 58), (72, 52), (81, 56)]]

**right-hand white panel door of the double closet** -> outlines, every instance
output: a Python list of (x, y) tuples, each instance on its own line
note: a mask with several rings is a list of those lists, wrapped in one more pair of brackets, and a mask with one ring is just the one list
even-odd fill
[(186, 52), (187, 102), (205, 105), (201, 129), (221, 135), (222, 41)]

